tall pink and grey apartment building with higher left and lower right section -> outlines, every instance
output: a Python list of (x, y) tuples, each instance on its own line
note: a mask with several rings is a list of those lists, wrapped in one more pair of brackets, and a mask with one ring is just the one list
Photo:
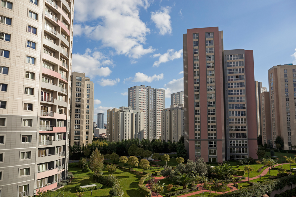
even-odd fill
[[(256, 126), (256, 118), (253, 118), (254, 115), (247, 117), (248, 113), (256, 112), (252, 51), (223, 51), (223, 31), (219, 31), (218, 27), (188, 29), (187, 34), (183, 35), (183, 48), (184, 134), (188, 158), (195, 160), (195, 156), (198, 156), (206, 162), (249, 156), (257, 158), (255, 149), (247, 150), (249, 146), (257, 145), (256, 128), (252, 126)], [(242, 59), (244, 54), (248, 56), (246, 59)], [(242, 70), (248, 72), (246, 77), (239, 74)], [(234, 84), (232, 81), (239, 82)], [(244, 88), (239, 88), (243, 82)], [(236, 95), (244, 92), (244, 97), (249, 95), (248, 99), (234, 97), (234, 92)], [(238, 106), (241, 109), (241, 105), (242, 110), (237, 110)], [(241, 120), (240, 116), (244, 116), (243, 122), (236, 123), (235, 120)], [(242, 127), (246, 131), (242, 131)], [(242, 133), (246, 140), (231, 140)]]

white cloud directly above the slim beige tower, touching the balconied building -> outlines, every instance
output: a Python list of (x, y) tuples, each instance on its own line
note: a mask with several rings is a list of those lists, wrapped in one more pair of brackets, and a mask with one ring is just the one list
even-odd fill
[[(90, 78), (98, 76), (108, 76), (111, 74), (111, 70), (107, 65), (112, 65), (112, 59), (109, 59), (103, 53), (92, 51), (87, 48), (84, 54), (74, 53), (72, 61), (72, 71), (81, 71), (85, 73), (85, 76)], [(87, 65), (87, 66), (86, 66)], [(106, 66), (106, 67), (102, 67)]]

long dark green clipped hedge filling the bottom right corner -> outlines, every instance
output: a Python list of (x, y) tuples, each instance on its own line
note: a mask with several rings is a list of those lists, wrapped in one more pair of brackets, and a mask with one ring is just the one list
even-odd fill
[(266, 193), (271, 193), (274, 190), (284, 189), (284, 187), (286, 185), (289, 185), (290, 182), (296, 184), (296, 175), (289, 175), (278, 179), (265, 181), (264, 183), (261, 183), (259, 185), (254, 185), (247, 188), (235, 190), (233, 192), (221, 194), (219, 195), (219, 197), (259, 197), (263, 196)]

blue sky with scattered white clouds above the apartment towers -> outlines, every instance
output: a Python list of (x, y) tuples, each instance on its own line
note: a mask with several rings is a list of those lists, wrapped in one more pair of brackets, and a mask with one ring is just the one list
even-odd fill
[(183, 91), (183, 34), (219, 27), (224, 50), (254, 50), (255, 80), (296, 64), (295, 0), (75, 0), (72, 71), (94, 82), (97, 113), (128, 106), (135, 85)]

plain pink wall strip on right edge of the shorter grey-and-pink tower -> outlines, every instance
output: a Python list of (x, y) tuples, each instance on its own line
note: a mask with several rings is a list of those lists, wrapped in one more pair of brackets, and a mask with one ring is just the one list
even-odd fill
[[(254, 56), (253, 50), (244, 51), (245, 54), (245, 76), (246, 76), (246, 100), (247, 100), (247, 121), (248, 121), (248, 140), (249, 156), (258, 159), (257, 149), (257, 121), (256, 121), (256, 95), (254, 77)], [(254, 143), (254, 141), (256, 141)]]

